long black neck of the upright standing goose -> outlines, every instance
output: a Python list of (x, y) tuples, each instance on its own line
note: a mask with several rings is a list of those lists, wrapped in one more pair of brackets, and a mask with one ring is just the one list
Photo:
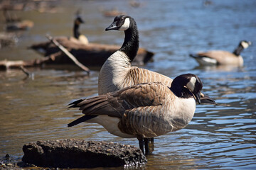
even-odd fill
[(129, 57), (130, 62), (132, 62), (139, 50), (139, 33), (136, 23), (133, 22), (132, 26), (128, 30), (124, 31), (124, 34), (124, 43), (119, 50), (124, 52)]

